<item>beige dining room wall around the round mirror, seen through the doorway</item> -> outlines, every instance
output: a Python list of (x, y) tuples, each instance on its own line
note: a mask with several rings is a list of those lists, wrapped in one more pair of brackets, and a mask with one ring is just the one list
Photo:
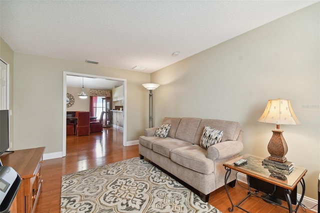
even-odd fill
[[(81, 88), (66, 87), (66, 92), (72, 94), (74, 98), (74, 104), (66, 108), (66, 111), (90, 111), (90, 98), (81, 99), (77, 95), (81, 92)], [(84, 93), (89, 94), (89, 88), (84, 88)]]

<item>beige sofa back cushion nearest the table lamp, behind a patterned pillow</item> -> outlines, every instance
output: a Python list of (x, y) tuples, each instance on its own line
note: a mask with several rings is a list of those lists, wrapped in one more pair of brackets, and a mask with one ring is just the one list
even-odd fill
[(235, 121), (202, 119), (194, 137), (194, 144), (200, 144), (200, 138), (206, 125), (223, 131), (221, 142), (226, 140), (236, 140), (241, 130), (240, 124)]

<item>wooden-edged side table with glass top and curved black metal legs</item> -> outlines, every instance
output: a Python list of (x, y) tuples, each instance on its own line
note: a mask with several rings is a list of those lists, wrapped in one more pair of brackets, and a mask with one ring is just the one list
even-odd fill
[[(247, 163), (239, 165), (239, 166), (236, 166), (233, 164), (236, 160), (241, 159), (241, 158), (246, 159)], [(279, 205), (283, 208), (286, 208), (286, 209), (288, 209), (289, 212), (292, 212), (292, 211), (297, 212), (297, 209), (299, 208), (299, 206), (301, 204), (301, 201), (303, 199), (304, 192), (305, 192), (305, 183), (303, 180), (303, 176), (305, 175), (307, 170), (305, 168), (294, 165), (293, 171), (290, 174), (288, 174), (288, 175), (282, 174), (281, 178), (276, 178), (276, 177), (274, 177), (274, 175), (271, 174), (272, 171), (270, 171), (269, 168), (263, 167), (262, 160), (263, 160), (262, 157), (258, 157), (258, 156), (254, 156), (254, 155), (250, 155), (250, 154), (245, 154), (245, 155), (242, 155), (240, 157), (234, 158), (232, 160), (229, 160), (229, 161), (223, 163), (223, 166), (225, 167), (225, 170), (226, 170), (225, 177), (224, 177), (225, 191), (226, 191), (227, 196), (231, 202), (231, 207), (229, 207), (229, 211), (231, 212), (231, 211), (233, 211), (234, 207), (237, 207), (245, 212), (249, 212), (246, 209), (242, 208), (240, 206), (240, 204), (249, 196), (254, 195), (254, 196), (257, 196), (257, 197), (260, 197), (260, 198), (266, 200), (267, 202), (271, 202), (272, 204), (276, 204), (276, 205)], [(283, 206), (281, 204), (278, 204), (276, 202), (267, 200), (266, 198), (258, 195), (257, 193), (252, 192), (250, 190), (250, 187), (248, 187), (249, 191), (248, 191), (247, 195), (242, 200), (240, 200), (237, 204), (233, 204), (233, 202), (230, 198), (230, 195), (228, 193), (228, 189), (227, 189), (227, 179), (230, 175), (231, 169), (239, 171), (243, 174), (246, 174), (248, 186), (250, 185), (250, 182), (249, 182), (249, 176), (250, 176), (250, 177), (255, 177), (255, 178), (260, 179), (262, 181), (265, 181), (265, 182), (271, 183), (273, 185), (284, 188), (284, 193), (285, 193), (284, 195), (285, 195), (285, 199), (288, 204), (288, 207)], [(302, 186), (302, 193), (301, 193), (301, 197), (296, 205), (296, 208), (292, 210), (292, 202), (291, 202), (291, 198), (290, 198), (290, 193), (297, 186), (298, 182), (300, 182), (300, 184)]]

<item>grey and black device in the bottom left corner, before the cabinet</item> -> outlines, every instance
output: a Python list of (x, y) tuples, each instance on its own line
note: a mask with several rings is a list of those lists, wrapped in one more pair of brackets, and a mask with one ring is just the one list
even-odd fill
[(0, 166), (0, 213), (9, 212), (20, 183), (21, 178), (12, 167)]

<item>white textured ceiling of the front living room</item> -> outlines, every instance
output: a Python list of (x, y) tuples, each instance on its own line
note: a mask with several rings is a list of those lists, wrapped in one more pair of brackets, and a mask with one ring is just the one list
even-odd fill
[(0, 0), (0, 36), (15, 52), (153, 72), (315, 2)]

